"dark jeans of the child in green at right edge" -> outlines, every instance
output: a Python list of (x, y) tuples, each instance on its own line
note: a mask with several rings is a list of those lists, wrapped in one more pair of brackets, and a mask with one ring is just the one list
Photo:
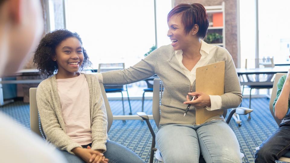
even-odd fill
[(261, 145), (255, 154), (255, 162), (275, 162), (290, 150), (290, 122), (281, 123), (279, 128)]

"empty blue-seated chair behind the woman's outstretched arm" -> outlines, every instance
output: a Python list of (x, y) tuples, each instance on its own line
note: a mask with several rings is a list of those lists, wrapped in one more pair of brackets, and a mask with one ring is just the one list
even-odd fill
[[(121, 70), (125, 68), (125, 63), (100, 63), (98, 72), (107, 72), (107, 71), (112, 71), (112, 70)], [(125, 115), (125, 109), (124, 109), (124, 99), (123, 99), (123, 93), (122, 91), (127, 92), (128, 96), (128, 102), (129, 102), (129, 108), (130, 108), (130, 113), (129, 115), (132, 115), (132, 110), (131, 110), (131, 104), (130, 104), (130, 98), (129, 98), (129, 93), (128, 93), (128, 88), (126, 85), (126, 90), (124, 90), (123, 85), (116, 85), (116, 86), (104, 86), (106, 93), (115, 93), (115, 92), (120, 92), (122, 94), (122, 106), (123, 106), (123, 115)]]

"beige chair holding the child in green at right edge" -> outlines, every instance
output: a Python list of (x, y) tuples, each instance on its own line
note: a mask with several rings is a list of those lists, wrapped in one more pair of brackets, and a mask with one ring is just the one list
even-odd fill
[[(277, 97), (277, 83), (283, 75), (287, 75), (287, 73), (277, 73), (276, 74), (275, 79), (274, 79), (272, 94), (271, 94), (271, 98), (270, 98), (270, 102), (269, 102), (270, 112), (271, 112), (272, 116), (274, 117), (274, 119), (278, 125), (281, 123), (282, 120), (275, 117), (275, 113), (273, 111), (273, 102), (274, 102), (275, 98)], [(259, 149), (260, 149), (260, 146), (256, 147), (256, 150), (259, 150)], [(290, 162), (290, 151), (288, 151), (285, 155), (280, 157), (279, 161)]]

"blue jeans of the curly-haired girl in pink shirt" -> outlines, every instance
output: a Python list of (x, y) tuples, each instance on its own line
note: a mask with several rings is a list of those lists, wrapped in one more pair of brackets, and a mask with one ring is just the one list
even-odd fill
[[(87, 146), (87, 145), (86, 145)], [(83, 146), (86, 148), (86, 146)], [(144, 163), (144, 161), (130, 149), (125, 146), (107, 140), (107, 151), (104, 156), (109, 159), (109, 163)], [(61, 151), (69, 163), (85, 163), (82, 158), (70, 154), (67, 151)]]

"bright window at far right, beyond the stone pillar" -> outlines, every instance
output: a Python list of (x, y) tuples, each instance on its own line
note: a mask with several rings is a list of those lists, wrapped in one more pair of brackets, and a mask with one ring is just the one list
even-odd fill
[(241, 67), (246, 58), (272, 58), (275, 64), (290, 64), (289, 0), (259, 0), (259, 54), (255, 56), (255, 0), (240, 0)]

